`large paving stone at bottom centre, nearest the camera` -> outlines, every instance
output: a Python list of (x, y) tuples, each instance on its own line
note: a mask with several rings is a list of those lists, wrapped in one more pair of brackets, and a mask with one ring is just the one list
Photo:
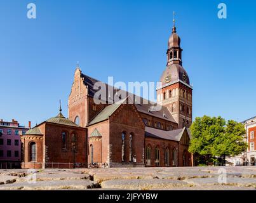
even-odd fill
[(179, 180), (108, 180), (101, 183), (102, 188), (125, 190), (151, 190), (152, 188), (173, 188), (189, 186), (188, 183)]

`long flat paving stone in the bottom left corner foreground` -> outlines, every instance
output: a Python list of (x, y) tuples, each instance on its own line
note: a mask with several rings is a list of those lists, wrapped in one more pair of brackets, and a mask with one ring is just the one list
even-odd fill
[(36, 181), (36, 183), (13, 183), (1, 185), (0, 190), (86, 190), (97, 188), (98, 183), (89, 180)]

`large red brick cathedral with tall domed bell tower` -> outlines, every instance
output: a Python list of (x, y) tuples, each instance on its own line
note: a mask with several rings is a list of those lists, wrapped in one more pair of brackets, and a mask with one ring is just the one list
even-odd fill
[[(107, 95), (95, 103), (93, 86), (99, 81), (77, 66), (69, 119), (60, 113), (22, 136), (23, 167), (70, 167), (73, 160), (83, 166), (93, 162), (109, 167), (192, 166), (187, 129), (192, 122), (192, 86), (182, 67), (175, 25), (166, 56), (163, 85), (156, 90), (159, 110), (128, 92), (121, 102), (109, 102), (119, 89), (107, 84)], [(133, 102), (126, 104), (127, 100)]]

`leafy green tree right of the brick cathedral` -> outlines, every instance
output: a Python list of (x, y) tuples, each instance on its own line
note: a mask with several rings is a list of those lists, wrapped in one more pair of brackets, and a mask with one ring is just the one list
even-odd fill
[(200, 164), (206, 164), (215, 157), (238, 155), (246, 148), (243, 142), (243, 125), (222, 117), (196, 117), (191, 125), (192, 139), (189, 152), (198, 157)]

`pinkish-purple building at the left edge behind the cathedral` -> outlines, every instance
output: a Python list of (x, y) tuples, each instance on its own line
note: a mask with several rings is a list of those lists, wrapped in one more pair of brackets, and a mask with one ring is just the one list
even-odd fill
[(20, 126), (14, 119), (11, 122), (0, 120), (0, 169), (20, 167), (20, 135), (25, 134), (29, 128)]

